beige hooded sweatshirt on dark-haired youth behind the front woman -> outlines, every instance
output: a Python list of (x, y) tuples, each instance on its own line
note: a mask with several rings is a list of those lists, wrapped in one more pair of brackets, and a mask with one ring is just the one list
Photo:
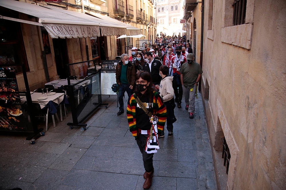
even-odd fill
[(172, 81), (173, 76), (166, 76), (161, 80), (159, 92), (163, 99), (163, 102), (169, 101), (174, 97)]

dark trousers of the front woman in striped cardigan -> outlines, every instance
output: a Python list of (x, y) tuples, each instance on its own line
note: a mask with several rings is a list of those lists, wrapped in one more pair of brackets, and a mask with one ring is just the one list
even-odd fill
[(142, 154), (145, 171), (151, 172), (153, 170), (153, 155), (154, 155), (154, 153), (147, 154), (147, 152), (145, 152), (147, 137), (148, 137), (147, 134), (139, 134), (138, 133), (136, 142), (137, 142), (138, 147), (140, 149), (140, 152)]

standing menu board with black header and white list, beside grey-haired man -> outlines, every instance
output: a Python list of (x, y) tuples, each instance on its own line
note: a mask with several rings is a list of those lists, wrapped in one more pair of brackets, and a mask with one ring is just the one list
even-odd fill
[(102, 95), (116, 95), (111, 87), (116, 83), (115, 71), (118, 60), (105, 60), (101, 62), (100, 89)]

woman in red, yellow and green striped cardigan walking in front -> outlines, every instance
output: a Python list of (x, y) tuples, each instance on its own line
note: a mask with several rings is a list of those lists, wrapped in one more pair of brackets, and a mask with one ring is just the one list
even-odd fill
[[(154, 151), (145, 151), (147, 137), (150, 134), (152, 123), (150, 117), (144, 112), (144, 110), (138, 106), (136, 97), (140, 99), (144, 107), (153, 115), (158, 117), (157, 129), (160, 135), (164, 131), (164, 125), (166, 122), (166, 107), (159, 93), (152, 89), (152, 78), (148, 72), (139, 72), (136, 74), (136, 90), (131, 95), (127, 106), (127, 120), (129, 124), (130, 132), (135, 137), (137, 145), (142, 154), (145, 173), (143, 177), (146, 179), (143, 185), (144, 189), (148, 189), (152, 185), (152, 177), (154, 173), (153, 167), (153, 155)], [(155, 135), (154, 138), (157, 139)], [(158, 141), (157, 141), (158, 142)], [(153, 149), (153, 148), (152, 148)]]

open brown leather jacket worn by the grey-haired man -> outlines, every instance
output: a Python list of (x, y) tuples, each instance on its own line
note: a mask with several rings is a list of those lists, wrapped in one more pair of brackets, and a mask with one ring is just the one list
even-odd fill
[[(116, 67), (116, 83), (121, 83), (120, 81), (120, 76), (121, 76), (121, 65), (122, 65), (122, 61), (120, 61), (118, 64), (117, 64), (117, 67)], [(129, 61), (128, 64), (127, 64), (127, 72), (126, 72), (126, 75), (127, 75), (127, 80), (128, 80), (128, 83), (129, 85), (133, 86), (135, 85), (135, 67), (134, 65)]]

